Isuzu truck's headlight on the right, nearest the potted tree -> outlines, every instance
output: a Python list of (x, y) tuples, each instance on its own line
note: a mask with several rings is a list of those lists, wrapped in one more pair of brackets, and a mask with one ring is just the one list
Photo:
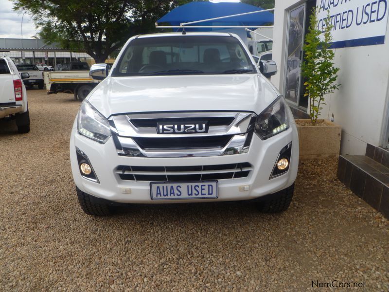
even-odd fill
[(276, 98), (258, 117), (255, 132), (265, 140), (289, 128), (287, 105), (282, 96)]

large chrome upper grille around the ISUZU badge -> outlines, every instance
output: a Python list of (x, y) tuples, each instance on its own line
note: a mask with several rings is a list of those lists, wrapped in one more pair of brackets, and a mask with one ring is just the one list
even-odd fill
[[(109, 118), (117, 152), (133, 157), (206, 157), (248, 152), (252, 112), (162, 112)], [(208, 132), (160, 134), (158, 123), (206, 121)]]

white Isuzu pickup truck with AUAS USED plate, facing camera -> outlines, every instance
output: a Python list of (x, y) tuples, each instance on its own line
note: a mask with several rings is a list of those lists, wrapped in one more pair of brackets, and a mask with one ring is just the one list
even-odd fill
[(123, 203), (253, 200), (282, 212), (299, 161), (293, 116), (229, 33), (131, 37), (74, 121), (71, 170), (85, 213)]

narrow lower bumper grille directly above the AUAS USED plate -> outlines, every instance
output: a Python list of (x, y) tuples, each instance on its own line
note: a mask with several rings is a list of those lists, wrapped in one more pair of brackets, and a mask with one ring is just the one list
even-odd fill
[(125, 181), (204, 181), (248, 177), (251, 164), (220, 164), (195, 166), (127, 166), (116, 168), (117, 175)]

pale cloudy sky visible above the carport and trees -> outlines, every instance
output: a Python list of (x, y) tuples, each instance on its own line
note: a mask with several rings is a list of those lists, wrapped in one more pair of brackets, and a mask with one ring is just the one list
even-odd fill
[[(239, 2), (239, 0), (212, 0), (212, 2)], [(0, 38), (20, 38), (21, 20), (23, 13), (12, 10), (13, 3), (9, 0), (0, 0)], [(31, 38), (38, 33), (31, 16), (27, 13), (23, 17), (23, 38)]]

